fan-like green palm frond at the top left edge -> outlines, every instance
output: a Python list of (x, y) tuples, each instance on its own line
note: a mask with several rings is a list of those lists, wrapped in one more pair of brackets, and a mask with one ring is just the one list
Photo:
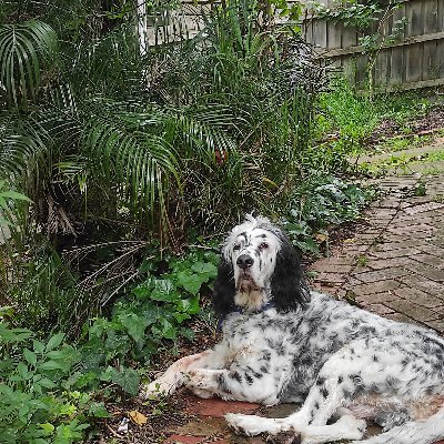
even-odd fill
[(42, 70), (58, 56), (54, 30), (38, 20), (0, 26), (0, 101), (28, 109), (36, 100)]

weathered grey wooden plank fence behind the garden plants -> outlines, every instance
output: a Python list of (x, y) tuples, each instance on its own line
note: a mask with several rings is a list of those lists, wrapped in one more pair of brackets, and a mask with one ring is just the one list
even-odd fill
[[(364, 33), (354, 27), (316, 17), (310, 12), (311, 0), (302, 1), (307, 8), (299, 24), (305, 40), (313, 44), (320, 59), (332, 63), (357, 87), (364, 85), (369, 80), (371, 61), (369, 53), (359, 44)], [(386, 20), (375, 22), (366, 32), (390, 36), (397, 20), (406, 20), (398, 39), (377, 51), (371, 75), (373, 87), (394, 91), (444, 84), (444, 0), (398, 1), (401, 8)], [(334, 0), (316, 2), (334, 7)], [(150, 42), (169, 42), (176, 40), (178, 36), (192, 38), (202, 29), (202, 9), (215, 3), (218, 1), (183, 0), (182, 10), (173, 12), (165, 23), (148, 26)]]

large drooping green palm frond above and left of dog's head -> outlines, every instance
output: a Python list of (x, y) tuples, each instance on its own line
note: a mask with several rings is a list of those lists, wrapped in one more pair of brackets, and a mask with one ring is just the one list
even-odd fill
[(141, 219), (168, 214), (170, 181), (179, 190), (181, 181), (176, 154), (164, 139), (93, 117), (82, 142), (94, 170)]

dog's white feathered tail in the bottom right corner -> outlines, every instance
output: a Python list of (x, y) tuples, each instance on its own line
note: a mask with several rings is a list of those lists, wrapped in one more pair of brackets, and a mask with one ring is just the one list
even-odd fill
[(432, 444), (444, 438), (444, 405), (424, 421), (410, 421), (386, 433), (353, 444)]

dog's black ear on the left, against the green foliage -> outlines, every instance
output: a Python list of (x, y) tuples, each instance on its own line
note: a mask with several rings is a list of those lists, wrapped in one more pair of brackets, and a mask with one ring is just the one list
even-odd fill
[(224, 319), (234, 310), (234, 270), (222, 255), (213, 286), (213, 307), (219, 319)]

